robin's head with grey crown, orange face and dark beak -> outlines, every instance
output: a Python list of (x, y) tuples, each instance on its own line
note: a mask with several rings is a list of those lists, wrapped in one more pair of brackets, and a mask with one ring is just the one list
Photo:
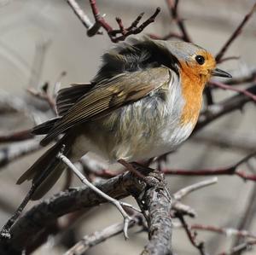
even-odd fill
[(165, 44), (189, 76), (201, 78), (204, 83), (212, 76), (231, 78), (228, 72), (216, 68), (215, 58), (206, 49), (194, 43), (168, 41)]

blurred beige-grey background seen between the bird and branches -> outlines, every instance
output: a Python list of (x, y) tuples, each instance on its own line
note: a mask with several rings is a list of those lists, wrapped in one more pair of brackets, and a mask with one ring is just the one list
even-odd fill
[[(230, 34), (236, 29), (245, 14), (253, 6), (254, 0), (182, 0), (179, 1), (179, 11), (189, 31), (192, 40), (202, 47), (210, 50), (213, 55), (218, 53)], [(87, 1), (78, 1), (84, 12), (91, 15)], [(102, 14), (107, 14), (108, 22), (116, 27), (115, 17), (122, 18), (126, 26), (131, 24), (137, 14), (145, 12), (144, 20), (157, 6), (161, 12), (156, 21), (148, 26), (143, 33), (154, 33), (164, 36), (168, 32), (177, 32), (175, 22), (171, 22), (166, 2), (163, 1), (125, 1), (108, 0), (97, 1)], [(112, 47), (106, 33), (102, 36), (88, 38), (84, 26), (73, 14), (73, 10), (66, 1), (61, 0), (0, 0), (0, 91), (1, 97), (14, 97), (14, 104), (22, 107), (21, 101), (34, 101), (26, 89), (40, 88), (49, 82), (49, 90), (53, 90), (55, 82), (60, 78), (61, 72), (67, 72), (61, 79), (61, 86), (71, 83), (84, 83), (90, 81), (96, 74), (101, 62), (101, 55)], [(142, 33), (142, 34), (143, 34)], [(249, 20), (241, 35), (231, 45), (227, 56), (240, 56), (239, 60), (226, 61), (220, 65), (222, 69), (233, 74), (234, 77), (246, 75), (256, 69), (256, 15)], [(229, 90), (216, 90), (216, 101), (236, 93)], [(45, 112), (50, 110), (47, 104), (37, 102)], [(36, 113), (36, 111), (34, 111)], [(218, 119), (207, 128), (201, 130), (198, 136), (189, 139), (175, 154), (168, 158), (167, 167), (179, 169), (218, 168), (232, 165), (256, 148), (256, 118), (255, 105), (249, 103), (243, 111), (236, 111)], [(38, 116), (40, 118), (40, 116)], [(43, 121), (44, 119), (39, 119)], [(23, 113), (0, 112), (0, 135), (13, 131), (25, 130), (32, 127), (30, 116)], [(235, 139), (241, 146), (220, 147), (204, 137), (224, 137), (229, 141)], [(234, 137), (234, 138), (233, 138)], [(19, 143), (19, 142), (17, 142)], [(15, 144), (17, 144), (15, 143)], [(15, 148), (15, 144), (11, 144)], [(10, 143), (1, 143), (0, 148), (7, 148)], [(11, 212), (20, 204), (25, 196), (29, 183), (22, 186), (15, 185), (21, 173), (32, 165), (43, 150), (13, 160), (4, 165), (0, 172), (0, 223), (6, 222)], [(1, 157), (1, 154), (0, 154)], [(109, 169), (112, 168), (109, 165)], [(256, 159), (250, 159), (240, 169), (256, 174)], [(171, 192), (179, 188), (196, 183), (207, 177), (168, 177)], [(60, 190), (55, 186), (51, 193)], [(80, 185), (79, 182), (73, 185)], [(244, 229), (256, 235), (256, 188), (253, 182), (243, 182), (239, 177), (218, 177), (218, 183), (201, 189), (183, 200), (183, 203), (192, 206), (198, 214), (189, 223), (215, 225), (224, 228), (238, 228), (244, 216), (247, 222)], [(47, 194), (49, 196), (49, 194)], [(128, 198), (127, 201), (134, 202)], [(250, 210), (247, 211), (248, 204)], [(32, 203), (27, 206), (27, 209)], [(120, 222), (119, 212), (113, 206), (99, 206), (91, 210), (79, 223), (74, 223), (75, 238), (95, 232), (107, 227), (110, 223)], [(138, 254), (147, 242), (147, 234), (134, 234), (138, 229), (131, 230), (129, 241), (122, 235), (114, 237), (101, 245), (93, 247), (86, 254)], [(210, 232), (199, 232), (199, 240), (206, 241), (207, 250), (211, 254), (222, 252), (230, 247), (234, 239), (229, 236)], [(61, 246), (58, 239), (51, 238), (33, 254), (62, 254), (67, 250)], [(177, 254), (198, 254), (191, 246), (183, 229), (175, 229), (173, 233), (173, 247)], [(245, 254), (255, 254), (246, 252)]]

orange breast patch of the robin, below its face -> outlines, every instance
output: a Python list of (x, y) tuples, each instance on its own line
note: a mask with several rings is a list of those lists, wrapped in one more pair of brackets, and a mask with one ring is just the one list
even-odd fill
[(182, 65), (181, 81), (182, 81), (182, 94), (185, 101), (181, 124), (186, 125), (191, 123), (195, 125), (201, 109), (202, 91), (205, 82), (189, 70), (186, 64)]

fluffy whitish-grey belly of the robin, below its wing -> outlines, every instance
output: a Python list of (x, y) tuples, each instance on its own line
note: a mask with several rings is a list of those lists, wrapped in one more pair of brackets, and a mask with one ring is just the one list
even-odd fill
[(172, 84), (165, 99), (154, 94), (90, 123), (77, 137), (74, 150), (80, 157), (92, 151), (111, 163), (166, 154), (186, 140), (194, 128), (192, 123), (181, 125), (183, 105), (180, 86)]

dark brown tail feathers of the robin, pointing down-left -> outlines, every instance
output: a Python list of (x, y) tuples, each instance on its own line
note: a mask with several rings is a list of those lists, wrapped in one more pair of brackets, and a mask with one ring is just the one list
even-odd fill
[(68, 156), (71, 151), (70, 137), (64, 136), (52, 148), (49, 148), (17, 181), (17, 184), (24, 183), (26, 180), (32, 180), (32, 183), (38, 188), (32, 194), (31, 200), (39, 200), (46, 194), (50, 188), (61, 177), (65, 166), (57, 159), (57, 154), (65, 145), (62, 154)]

